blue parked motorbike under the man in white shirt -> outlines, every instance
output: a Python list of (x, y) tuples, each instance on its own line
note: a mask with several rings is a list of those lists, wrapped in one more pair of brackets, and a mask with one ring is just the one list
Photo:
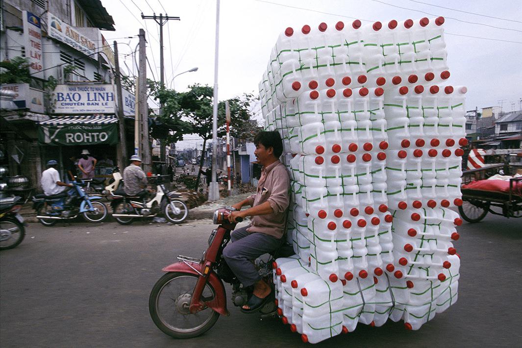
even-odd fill
[(108, 213), (104, 203), (99, 201), (101, 196), (90, 196), (84, 191), (85, 186), (75, 177), (73, 187), (57, 195), (33, 196), (33, 209), (37, 212), (37, 219), (44, 226), (53, 226), (59, 220), (70, 220), (81, 214), (91, 223), (102, 222)]

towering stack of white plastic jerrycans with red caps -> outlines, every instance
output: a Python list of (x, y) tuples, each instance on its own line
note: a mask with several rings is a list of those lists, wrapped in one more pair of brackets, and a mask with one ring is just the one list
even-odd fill
[(466, 87), (444, 18), (287, 28), (259, 84), (291, 176), (278, 314), (305, 342), (388, 318), (417, 330), (457, 301)]

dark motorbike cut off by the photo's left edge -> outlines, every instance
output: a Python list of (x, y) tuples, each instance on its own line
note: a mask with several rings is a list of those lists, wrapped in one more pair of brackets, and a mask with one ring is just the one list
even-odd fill
[(27, 224), (18, 213), (22, 209), (19, 200), (18, 196), (0, 199), (0, 250), (16, 248), (26, 236)]

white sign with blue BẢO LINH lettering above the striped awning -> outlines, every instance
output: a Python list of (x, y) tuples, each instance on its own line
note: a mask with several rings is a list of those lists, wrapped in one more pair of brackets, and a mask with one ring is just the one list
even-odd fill
[(114, 114), (111, 85), (58, 85), (52, 93), (55, 114)]

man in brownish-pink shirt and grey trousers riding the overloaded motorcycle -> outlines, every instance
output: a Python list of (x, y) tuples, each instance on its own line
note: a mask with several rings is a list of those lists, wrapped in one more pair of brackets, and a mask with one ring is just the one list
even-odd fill
[[(262, 131), (254, 138), (257, 162), (263, 165), (256, 194), (236, 203), (229, 215), (235, 219), (252, 217), (250, 225), (236, 229), (231, 234), (231, 242), (223, 250), (228, 266), (243, 286), (254, 286), (253, 294), (242, 307), (245, 313), (253, 313), (267, 301), (271, 287), (260, 278), (254, 263), (259, 256), (276, 250), (283, 242), (286, 224), (286, 210), (290, 203), (290, 177), (287, 169), (279, 161), (283, 146), (277, 131)], [(243, 206), (252, 208), (242, 210)]]

